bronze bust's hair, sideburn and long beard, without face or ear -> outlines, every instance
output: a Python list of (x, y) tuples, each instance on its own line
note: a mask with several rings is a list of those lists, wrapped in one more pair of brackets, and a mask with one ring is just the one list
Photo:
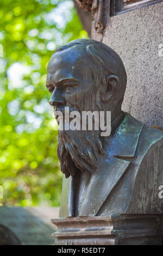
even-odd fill
[[(118, 77), (117, 90), (113, 95), (113, 101), (115, 100), (116, 106), (121, 106), (127, 82), (126, 71), (121, 58), (110, 47), (91, 39), (78, 39), (68, 42), (68, 44), (57, 48), (55, 52), (76, 46), (86, 52), (91, 62), (87, 60), (89, 62), (87, 73), (92, 76), (93, 84), (91, 93), (87, 95), (87, 99), (83, 100), (85, 109), (103, 111), (100, 95), (102, 96), (106, 91), (106, 86), (108, 86), (106, 77), (108, 75)], [(74, 51), (77, 50), (78, 48), (74, 49)], [(114, 103), (113, 101), (112, 103)], [(87, 104), (89, 108), (86, 108)], [(82, 111), (82, 109), (76, 110), (80, 113)], [(93, 174), (97, 171), (98, 164), (101, 164), (101, 160), (106, 155), (104, 137), (101, 137), (100, 133), (100, 130), (58, 131), (57, 154), (61, 171), (65, 173), (66, 178), (70, 175), (74, 176), (78, 172), (86, 171)]]

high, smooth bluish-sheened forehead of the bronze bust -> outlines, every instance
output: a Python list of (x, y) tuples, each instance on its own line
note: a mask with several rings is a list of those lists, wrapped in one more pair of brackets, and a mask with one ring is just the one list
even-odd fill
[(91, 65), (85, 48), (73, 46), (53, 54), (47, 67), (47, 80), (58, 82), (66, 78), (81, 78)]

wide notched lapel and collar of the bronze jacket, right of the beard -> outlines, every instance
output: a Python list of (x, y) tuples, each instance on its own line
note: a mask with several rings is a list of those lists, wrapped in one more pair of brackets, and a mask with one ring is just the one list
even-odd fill
[(96, 216), (109, 194), (121, 181), (135, 157), (143, 124), (126, 114), (121, 125), (110, 138), (108, 159), (92, 175), (79, 216)]

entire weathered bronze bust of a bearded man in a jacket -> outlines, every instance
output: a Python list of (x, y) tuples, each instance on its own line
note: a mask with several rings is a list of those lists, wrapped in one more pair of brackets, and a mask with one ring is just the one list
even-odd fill
[(118, 54), (101, 42), (79, 39), (49, 61), (50, 105), (76, 111), (111, 111), (111, 133), (58, 132), (62, 182), (60, 217), (161, 214), (163, 132), (121, 110), (127, 75)]

